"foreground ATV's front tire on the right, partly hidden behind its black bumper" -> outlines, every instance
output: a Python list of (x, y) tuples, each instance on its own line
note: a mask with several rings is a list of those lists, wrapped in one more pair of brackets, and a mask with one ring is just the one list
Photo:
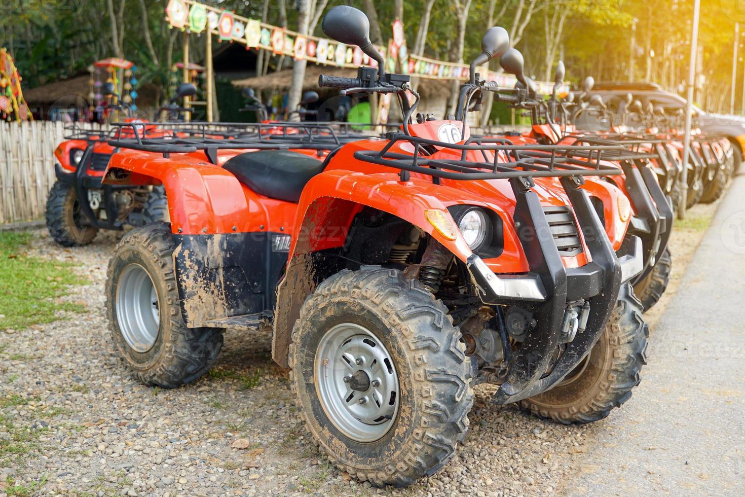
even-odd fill
[(624, 283), (605, 332), (589, 359), (557, 387), (520, 401), (521, 407), (567, 425), (602, 420), (626, 402), (633, 387), (639, 384), (639, 371), (647, 364), (648, 335), (641, 304), (631, 285)]

